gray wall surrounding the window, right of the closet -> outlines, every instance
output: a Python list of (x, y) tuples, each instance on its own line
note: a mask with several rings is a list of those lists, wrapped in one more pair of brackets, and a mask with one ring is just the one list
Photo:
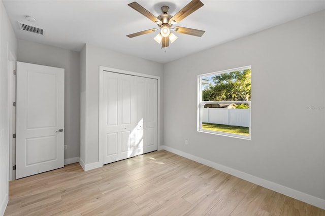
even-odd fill
[[(165, 64), (165, 145), (324, 199), (324, 14)], [(197, 76), (246, 65), (251, 140), (197, 132)]]

